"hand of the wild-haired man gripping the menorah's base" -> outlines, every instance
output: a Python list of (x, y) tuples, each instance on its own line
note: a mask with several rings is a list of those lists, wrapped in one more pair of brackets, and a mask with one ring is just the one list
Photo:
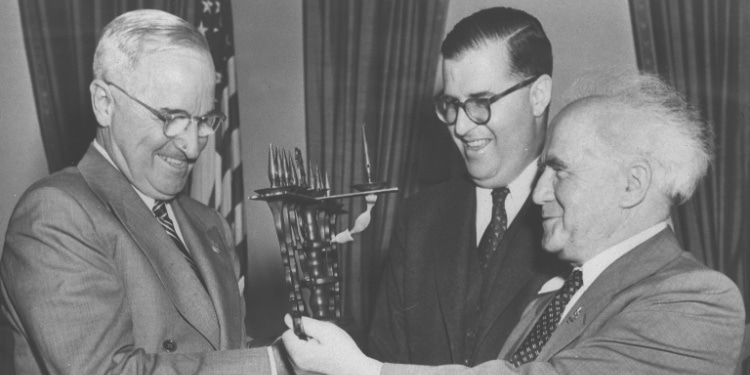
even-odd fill
[[(284, 317), (292, 328), (292, 318)], [(335, 324), (302, 317), (307, 340), (301, 340), (292, 329), (281, 336), (295, 369), (331, 375), (378, 375), (382, 363), (365, 356), (349, 335)]]

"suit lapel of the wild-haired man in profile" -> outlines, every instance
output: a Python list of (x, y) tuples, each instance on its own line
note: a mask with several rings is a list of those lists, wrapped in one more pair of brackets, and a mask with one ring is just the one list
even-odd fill
[(614, 295), (654, 274), (681, 251), (674, 233), (666, 228), (616, 260), (563, 317), (538, 358), (546, 361), (563, 350), (609, 305)]

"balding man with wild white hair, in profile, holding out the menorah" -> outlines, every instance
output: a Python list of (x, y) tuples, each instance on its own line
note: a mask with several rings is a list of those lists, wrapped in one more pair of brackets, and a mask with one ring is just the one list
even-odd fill
[(732, 373), (745, 321), (739, 290), (684, 252), (667, 225), (706, 173), (709, 128), (658, 78), (586, 87), (597, 91), (552, 122), (533, 193), (544, 248), (574, 269), (529, 305), (499, 359), (383, 365), (335, 326), (304, 319), (310, 340), (284, 333), (293, 362), (333, 374)]

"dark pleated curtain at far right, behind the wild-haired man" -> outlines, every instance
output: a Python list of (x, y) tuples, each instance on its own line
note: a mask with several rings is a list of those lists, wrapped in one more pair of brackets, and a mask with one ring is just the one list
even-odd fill
[(631, 0), (638, 65), (714, 126), (716, 159), (672, 217), (682, 244), (734, 280), (750, 305), (750, 3)]

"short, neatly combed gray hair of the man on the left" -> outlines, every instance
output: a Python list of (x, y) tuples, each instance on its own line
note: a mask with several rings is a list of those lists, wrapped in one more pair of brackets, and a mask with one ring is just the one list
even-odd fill
[(175, 47), (211, 56), (203, 34), (182, 18), (155, 9), (124, 13), (102, 30), (94, 53), (94, 78), (126, 75), (145, 54)]

